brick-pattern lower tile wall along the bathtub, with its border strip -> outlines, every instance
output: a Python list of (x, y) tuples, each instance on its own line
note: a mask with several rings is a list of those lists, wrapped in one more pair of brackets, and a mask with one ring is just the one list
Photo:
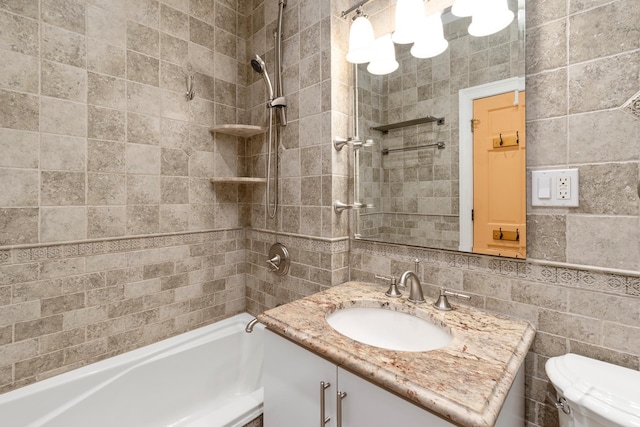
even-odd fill
[(244, 231), (0, 251), (0, 392), (245, 311)]

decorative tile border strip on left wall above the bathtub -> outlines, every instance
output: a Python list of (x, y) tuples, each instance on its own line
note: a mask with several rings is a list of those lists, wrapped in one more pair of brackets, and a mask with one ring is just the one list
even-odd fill
[(108, 254), (139, 249), (160, 248), (184, 244), (217, 242), (224, 239), (244, 239), (245, 230), (207, 230), (198, 232), (156, 234), (127, 238), (111, 238), (94, 241), (68, 242), (61, 244), (30, 245), (0, 250), (0, 265), (22, 264), (44, 259), (63, 259), (78, 256)]

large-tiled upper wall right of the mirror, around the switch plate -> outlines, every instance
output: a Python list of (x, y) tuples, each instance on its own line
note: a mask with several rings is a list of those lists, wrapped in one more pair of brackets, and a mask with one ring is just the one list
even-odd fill
[(580, 174), (578, 208), (527, 207), (533, 259), (640, 271), (639, 8), (527, 3), (527, 168)]

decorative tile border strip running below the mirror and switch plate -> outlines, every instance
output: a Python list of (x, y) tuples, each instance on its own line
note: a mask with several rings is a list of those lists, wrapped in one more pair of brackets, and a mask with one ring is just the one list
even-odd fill
[(640, 273), (622, 274), (606, 269), (560, 266), (541, 261), (503, 259), (362, 240), (353, 240), (351, 251), (353, 254), (389, 256), (408, 262), (420, 258), (425, 263), (441, 267), (485, 271), (500, 276), (640, 297)]

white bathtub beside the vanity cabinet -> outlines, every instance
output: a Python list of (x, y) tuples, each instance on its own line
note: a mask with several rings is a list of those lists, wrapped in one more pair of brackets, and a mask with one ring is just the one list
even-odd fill
[(236, 427), (262, 413), (248, 314), (0, 395), (3, 427)]

